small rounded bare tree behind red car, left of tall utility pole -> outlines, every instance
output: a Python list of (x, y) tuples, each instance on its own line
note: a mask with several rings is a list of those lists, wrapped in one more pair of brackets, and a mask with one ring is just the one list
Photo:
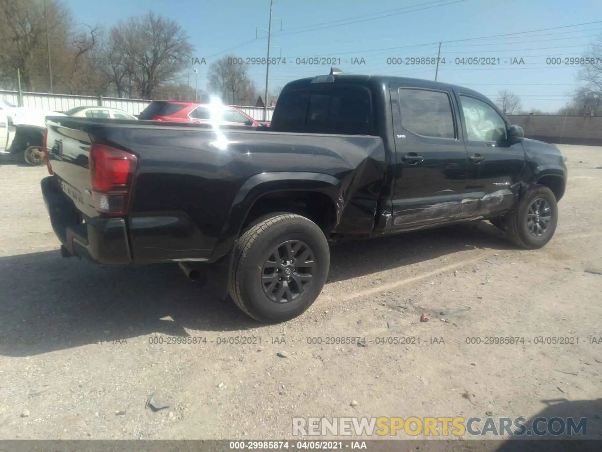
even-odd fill
[(238, 64), (236, 55), (226, 55), (209, 66), (207, 79), (208, 89), (213, 95), (226, 98), (232, 105), (251, 105), (257, 98), (257, 86), (247, 75), (247, 67)]

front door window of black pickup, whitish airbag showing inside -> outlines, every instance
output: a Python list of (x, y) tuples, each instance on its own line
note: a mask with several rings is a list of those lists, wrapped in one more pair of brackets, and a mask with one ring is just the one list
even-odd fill
[(497, 142), (506, 137), (506, 122), (491, 105), (460, 96), (468, 141)]

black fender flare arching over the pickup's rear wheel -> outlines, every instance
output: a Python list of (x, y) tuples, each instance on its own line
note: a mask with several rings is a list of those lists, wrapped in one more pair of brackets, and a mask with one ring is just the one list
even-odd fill
[(316, 172), (262, 172), (250, 177), (240, 187), (232, 202), (209, 262), (215, 262), (229, 253), (251, 207), (261, 196), (290, 190), (325, 193), (334, 202), (338, 221), (341, 215), (340, 186), (341, 181), (334, 176)]

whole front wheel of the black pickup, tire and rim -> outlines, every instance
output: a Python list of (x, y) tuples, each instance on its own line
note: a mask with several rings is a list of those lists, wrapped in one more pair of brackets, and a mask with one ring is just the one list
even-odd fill
[(548, 187), (535, 186), (517, 209), (504, 218), (508, 238), (522, 248), (541, 248), (554, 235), (558, 224), (558, 205)]

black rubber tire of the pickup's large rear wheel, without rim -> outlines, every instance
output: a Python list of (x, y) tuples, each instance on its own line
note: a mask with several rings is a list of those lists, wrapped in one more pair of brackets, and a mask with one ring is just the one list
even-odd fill
[[(289, 296), (291, 300), (276, 303), (268, 298), (268, 289), (264, 288), (264, 284), (270, 283), (264, 283), (265, 280), (262, 278), (272, 275), (265, 273), (268, 271), (265, 264), (270, 257), (275, 256), (273, 253), (281, 250), (279, 246), (291, 240), (302, 243), (299, 245), (300, 248), (295, 251), (300, 254), (297, 254), (296, 259), (293, 260), (300, 259), (307, 249), (311, 253), (309, 256), (313, 257), (311, 281), (305, 286), (301, 283), (305, 289), (298, 289), (296, 290), (298, 293), (294, 294), (293, 287), (297, 287), (296, 281), (300, 280), (297, 267), (294, 267), (291, 277), (297, 278), (290, 281), (291, 286), (288, 286), (287, 283), (286, 287), (287, 289), (290, 287), (290, 290), (287, 292), (288, 295), (285, 294), (287, 300)], [(279, 257), (278, 260), (280, 259)], [(303, 262), (308, 263), (308, 260), (303, 259)], [(234, 303), (252, 318), (265, 323), (284, 322), (301, 315), (314, 303), (326, 283), (329, 266), (328, 242), (314, 222), (293, 213), (271, 213), (255, 221), (237, 240), (230, 271), (229, 293)], [(300, 267), (305, 269), (302, 265)], [(276, 271), (282, 271), (282, 269), (273, 269), (274, 275)], [(281, 274), (284, 276), (284, 273)], [(276, 284), (274, 287), (279, 288), (285, 283), (275, 280), (274, 284)], [(280, 296), (283, 295), (280, 294)]]

